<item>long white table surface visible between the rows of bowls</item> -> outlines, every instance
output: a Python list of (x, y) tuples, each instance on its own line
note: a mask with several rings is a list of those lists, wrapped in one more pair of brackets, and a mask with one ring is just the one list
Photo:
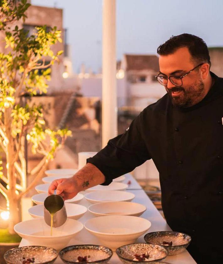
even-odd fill
[[(129, 180), (131, 181), (131, 184), (129, 184), (129, 187), (126, 191), (132, 192), (135, 194), (135, 198), (132, 200), (132, 202), (138, 202), (147, 207), (146, 211), (141, 215), (141, 217), (148, 219), (151, 222), (151, 228), (146, 232), (154, 232), (154, 231), (168, 231), (171, 230), (170, 227), (167, 225), (166, 221), (163, 219), (162, 215), (159, 213), (157, 208), (153, 205), (149, 197), (146, 195), (145, 191), (141, 188), (141, 186), (138, 184), (138, 182), (130, 175), (125, 175), (124, 183), (127, 183)], [(90, 206), (91, 203), (88, 202), (85, 198), (83, 198), (79, 204), (84, 205), (86, 207)], [(82, 216), (78, 221), (85, 223), (86, 220), (89, 218), (93, 218), (93, 216), (90, 212), (85, 213), (84, 216)], [(139, 237), (136, 242), (145, 242), (143, 239), (144, 235)], [(80, 244), (94, 244), (94, 245), (103, 245), (100, 243), (100, 241), (94, 237), (92, 234), (90, 234), (85, 228), (82, 229), (82, 231), (77, 234), (75, 238), (70, 240), (68, 245), (80, 245)], [(27, 246), (31, 245), (27, 240), (22, 239), (20, 242), (19, 247), (21, 246)], [(187, 250), (183, 251), (181, 254), (178, 254), (176, 256), (167, 256), (165, 258), (166, 262), (169, 262), (171, 264), (196, 264), (194, 259), (190, 256)], [(55, 264), (63, 264), (64, 262), (58, 258), (54, 262)], [(121, 263), (118, 256), (115, 252), (113, 252), (113, 256), (111, 260), (109, 261), (110, 264), (117, 264)], [(162, 262), (161, 262), (162, 263)]]

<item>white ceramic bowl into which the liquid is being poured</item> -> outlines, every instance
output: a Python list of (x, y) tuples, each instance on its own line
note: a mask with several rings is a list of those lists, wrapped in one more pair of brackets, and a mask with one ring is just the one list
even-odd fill
[(53, 228), (50, 236), (50, 226), (43, 218), (23, 221), (14, 226), (14, 230), (30, 245), (48, 246), (60, 250), (83, 229), (83, 224), (77, 220), (67, 219), (65, 224)]

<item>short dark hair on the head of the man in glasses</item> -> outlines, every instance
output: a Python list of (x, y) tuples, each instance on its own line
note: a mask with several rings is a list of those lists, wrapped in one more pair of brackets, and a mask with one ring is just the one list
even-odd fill
[(157, 48), (157, 53), (159, 55), (169, 55), (183, 47), (188, 48), (192, 58), (197, 63), (207, 62), (211, 66), (210, 55), (206, 43), (203, 39), (191, 34), (184, 33), (178, 36), (172, 36)]

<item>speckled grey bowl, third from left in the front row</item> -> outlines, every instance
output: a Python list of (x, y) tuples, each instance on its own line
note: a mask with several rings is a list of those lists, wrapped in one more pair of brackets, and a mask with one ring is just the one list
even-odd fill
[[(142, 255), (149, 254), (149, 261), (135, 261), (135, 254)], [(164, 259), (168, 252), (167, 250), (159, 245), (152, 245), (146, 243), (134, 243), (124, 245), (116, 249), (116, 254), (123, 263), (152, 263), (157, 260)], [(155, 262), (156, 263), (156, 262)]]

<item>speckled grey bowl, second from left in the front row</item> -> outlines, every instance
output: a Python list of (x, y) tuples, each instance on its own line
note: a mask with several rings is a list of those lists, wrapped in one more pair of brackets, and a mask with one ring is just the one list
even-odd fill
[(113, 252), (110, 248), (99, 245), (72, 245), (65, 247), (59, 253), (62, 261), (66, 264), (78, 263), (78, 256), (87, 256), (87, 260), (91, 261), (90, 263), (107, 263), (112, 255)]

